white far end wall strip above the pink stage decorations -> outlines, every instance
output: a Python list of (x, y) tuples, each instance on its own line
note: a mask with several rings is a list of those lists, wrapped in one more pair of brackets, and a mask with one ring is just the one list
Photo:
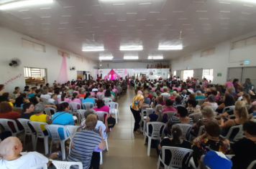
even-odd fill
[[(162, 64), (165, 64), (166, 62), (162, 61)], [(101, 64), (101, 66), (100, 66)], [(109, 67), (108, 67), (109, 64)], [(147, 68), (147, 64), (149, 64), (149, 67), (153, 65), (153, 68), (155, 68), (156, 64), (160, 64), (159, 61), (155, 62), (99, 62), (99, 69), (136, 69), (136, 68)], [(169, 63), (168, 63), (169, 64)]]

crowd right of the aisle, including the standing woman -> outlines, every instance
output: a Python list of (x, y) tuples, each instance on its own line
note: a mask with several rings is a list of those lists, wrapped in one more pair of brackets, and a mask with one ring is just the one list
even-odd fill
[[(193, 153), (183, 159), (183, 168), (189, 168), (188, 158), (193, 158), (196, 167), (200, 165), (201, 168), (206, 165), (210, 168), (247, 168), (256, 160), (256, 97), (250, 79), (244, 84), (237, 82), (237, 79), (228, 79), (225, 84), (209, 84), (205, 78), (199, 82), (193, 77), (184, 81), (176, 77), (136, 80), (136, 96), (130, 107), (134, 133), (140, 135), (145, 130), (152, 135), (153, 123), (143, 124), (141, 113), (155, 109), (145, 122), (165, 124), (160, 132), (164, 130), (167, 136), (161, 142), (156, 141), (157, 155), (162, 156), (163, 146), (186, 148)], [(186, 135), (182, 127), (185, 125), (191, 127)], [(234, 156), (231, 160), (222, 159), (222, 164), (214, 164), (206, 158), (212, 151)], [(165, 152), (163, 162), (169, 165), (172, 153)], [(206, 158), (204, 162), (202, 155)], [(164, 168), (163, 163), (160, 168)]]

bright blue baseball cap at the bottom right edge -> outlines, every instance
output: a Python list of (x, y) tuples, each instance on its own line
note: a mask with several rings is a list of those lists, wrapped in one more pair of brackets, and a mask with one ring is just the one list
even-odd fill
[(230, 169), (232, 161), (223, 153), (210, 150), (204, 156), (204, 165), (211, 169)]

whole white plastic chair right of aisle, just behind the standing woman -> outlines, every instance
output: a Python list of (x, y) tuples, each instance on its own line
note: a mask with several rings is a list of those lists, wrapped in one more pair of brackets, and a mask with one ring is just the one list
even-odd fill
[[(149, 133), (150, 125), (152, 126), (152, 133)], [(161, 137), (165, 130), (165, 126), (166, 126), (166, 124), (163, 122), (147, 122), (147, 131), (145, 132), (144, 144), (146, 144), (146, 137), (148, 137), (148, 141), (147, 141), (147, 155), (148, 156), (150, 156), (151, 140), (161, 140)], [(161, 128), (162, 128), (162, 133), (160, 133)]]

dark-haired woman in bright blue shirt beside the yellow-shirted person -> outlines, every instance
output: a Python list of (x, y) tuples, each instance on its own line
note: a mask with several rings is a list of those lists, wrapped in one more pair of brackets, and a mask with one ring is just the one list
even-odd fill
[[(52, 125), (74, 125), (75, 122), (73, 120), (73, 115), (71, 115), (68, 110), (69, 110), (69, 104), (68, 102), (63, 102), (59, 105), (58, 110), (59, 112), (56, 112), (52, 116)], [(58, 128), (58, 132), (60, 135), (60, 139), (64, 140), (64, 132), (63, 128)], [(69, 132), (67, 133), (67, 136), (69, 135)]]

